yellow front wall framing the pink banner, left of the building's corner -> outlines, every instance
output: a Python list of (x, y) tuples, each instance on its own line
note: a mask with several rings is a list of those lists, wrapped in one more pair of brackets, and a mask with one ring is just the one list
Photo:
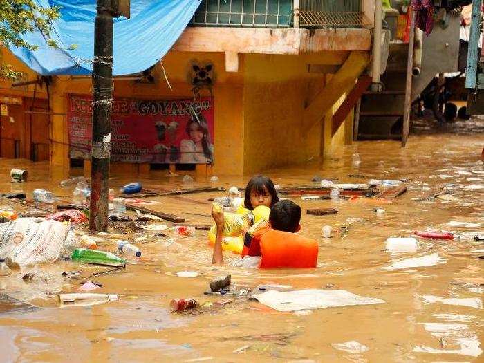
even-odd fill
[[(187, 82), (192, 59), (205, 60), (214, 64), (214, 173), (242, 174), (243, 160), (243, 78), (242, 73), (225, 72), (223, 53), (169, 52), (163, 59), (163, 66), (173, 90), (170, 90), (162, 67), (158, 64), (153, 73), (155, 84), (140, 84), (127, 80), (115, 80), (115, 97), (148, 97), (169, 99), (192, 97), (192, 86)], [(66, 113), (68, 94), (90, 94), (91, 80), (78, 77), (56, 77), (53, 86), (53, 111)], [(210, 95), (206, 90), (201, 95)], [(68, 134), (65, 115), (53, 116), (53, 164), (68, 167)]]

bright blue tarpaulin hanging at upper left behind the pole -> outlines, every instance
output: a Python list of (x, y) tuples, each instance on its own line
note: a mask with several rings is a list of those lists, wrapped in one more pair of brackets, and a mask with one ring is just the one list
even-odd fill
[[(156, 64), (180, 37), (201, 0), (131, 0), (131, 19), (115, 19), (113, 75), (129, 75)], [(22, 62), (41, 75), (89, 75), (94, 53), (95, 0), (37, 0), (44, 8), (59, 6), (51, 35), (59, 48), (46, 44), (40, 32), (23, 35), (37, 50), (11, 47)], [(75, 44), (75, 50), (68, 46)]]

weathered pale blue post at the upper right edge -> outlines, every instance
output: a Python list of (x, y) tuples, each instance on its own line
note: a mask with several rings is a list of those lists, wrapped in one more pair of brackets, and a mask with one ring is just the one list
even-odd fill
[(481, 2), (481, 0), (472, 0), (471, 31), (467, 50), (467, 68), (465, 69), (466, 89), (476, 88), (479, 37), (481, 35)]

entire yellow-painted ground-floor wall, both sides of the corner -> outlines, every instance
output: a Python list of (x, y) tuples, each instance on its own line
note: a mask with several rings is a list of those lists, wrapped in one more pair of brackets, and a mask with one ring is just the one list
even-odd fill
[[(17, 69), (35, 79), (15, 57), (5, 52)], [(324, 88), (331, 75), (308, 73), (308, 64), (337, 65), (344, 63), (348, 52), (322, 52), (301, 55), (239, 55), (239, 71), (225, 71), (223, 53), (170, 51), (153, 73), (155, 84), (138, 84), (115, 80), (115, 97), (150, 97), (169, 99), (191, 97), (188, 70), (192, 59), (214, 64), (215, 165), (218, 175), (252, 174), (274, 167), (297, 165), (309, 159), (331, 156), (344, 143), (351, 142), (351, 122), (347, 120), (335, 136), (331, 136), (331, 112), (321, 122), (304, 129), (301, 115), (305, 107)], [(10, 93), (10, 85), (0, 83)], [(0, 89), (0, 92), (2, 89)], [(33, 86), (24, 92), (32, 94)], [(68, 174), (68, 94), (90, 94), (89, 77), (53, 77), (50, 87), (51, 161), (59, 177)], [(209, 95), (203, 91), (203, 95)], [(46, 97), (45, 89), (37, 89), (37, 97)], [(340, 100), (339, 102), (341, 102)], [(113, 169), (116, 168), (113, 165)], [(133, 171), (133, 165), (122, 166)]]

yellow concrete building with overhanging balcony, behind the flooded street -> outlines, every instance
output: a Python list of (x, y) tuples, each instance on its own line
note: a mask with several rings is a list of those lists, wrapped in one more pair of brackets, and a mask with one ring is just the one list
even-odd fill
[[(118, 77), (114, 95), (152, 100), (193, 97), (187, 80), (190, 64), (210, 63), (214, 165), (197, 167), (198, 172), (253, 174), (331, 156), (353, 139), (354, 102), (344, 100), (370, 62), (374, 3), (202, 1), (162, 64), (151, 70), (154, 82)], [(24, 80), (38, 78), (39, 83), (12, 87), (11, 82), (0, 81), (0, 155), (48, 158), (54, 169), (67, 174), (68, 100), (71, 95), (91, 94), (91, 78), (37, 77), (5, 48), (3, 62), (22, 71)], [(200, 95), (210, 91), (201, 89)], [(89, 169), (88, 160), (84, 165)], [(112, 167), (127, 172), (150, 169), (146, 163)]]

